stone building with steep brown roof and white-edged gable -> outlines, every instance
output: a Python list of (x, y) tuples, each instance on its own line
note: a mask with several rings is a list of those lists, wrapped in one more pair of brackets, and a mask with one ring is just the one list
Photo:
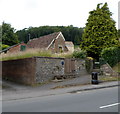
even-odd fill
[(27, 43), (29, 48), (39, 48), (51, 50), (54, 53), (67, 52), (65, 38), (61, 32), (55, 32), (49, 35), (34, 38)]

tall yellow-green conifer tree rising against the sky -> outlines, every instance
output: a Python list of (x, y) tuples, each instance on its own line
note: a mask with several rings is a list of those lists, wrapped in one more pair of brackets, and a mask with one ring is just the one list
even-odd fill
[[(87, 55), (98, 59), (102, 49), (118, 44), (115, 21), (111, 18), (107, 3), (89, 12), (89, 17), (83, 33), (80, 47), (87, 51)], [(101, 6), (101, 7), (100, 7)]]

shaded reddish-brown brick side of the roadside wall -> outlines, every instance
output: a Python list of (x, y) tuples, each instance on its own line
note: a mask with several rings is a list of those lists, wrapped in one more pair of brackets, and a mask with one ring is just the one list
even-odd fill
[(35, 58), (3, 61), (2, 78), (22, 84), (34, 84), (35, 61)]

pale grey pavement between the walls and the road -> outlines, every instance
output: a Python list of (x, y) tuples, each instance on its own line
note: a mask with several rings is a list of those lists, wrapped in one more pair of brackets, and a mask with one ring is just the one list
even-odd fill
[(34, 97), (43, 97), (57, 94), (74, 93), (77, 91), (88, 91), (108, 87), (119, 86), (118, 81), (102, 82), (92, 85), (90, 75), (80, 76), (63, 81), (54, 80), (48, 84), (38, 86), (25, 86), (8, 81), (0, 82), (4, 85), (2, 92), (2, 101), (28, 99)]

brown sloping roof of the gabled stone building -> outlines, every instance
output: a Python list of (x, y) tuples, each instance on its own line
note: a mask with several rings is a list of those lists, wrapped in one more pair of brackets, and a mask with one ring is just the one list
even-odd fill
[(61, 32), (55, 32), (49, 35), (34, 38), (27, 43), (30, 48), (48, 48), (54, 39), (58, 37)]

